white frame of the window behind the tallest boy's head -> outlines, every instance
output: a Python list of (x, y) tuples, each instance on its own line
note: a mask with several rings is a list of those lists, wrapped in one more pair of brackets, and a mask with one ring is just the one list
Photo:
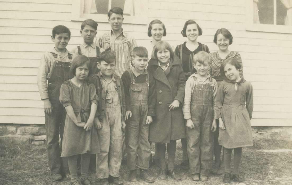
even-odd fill
[[(84, 21), (85, 19), (93, 19), (96, 22), (108, 22), (107, 14), (84, 14), (81, 10), (81, 2), (84, 0), (74, 0), (72, 1), (72, 11), (71, 11), (71, 21)], [(128, 24), (148, 24), (148, 0), (140, 0), (143, 4), (142, 15), (130, 16), (123, 15), (124, 22)]]

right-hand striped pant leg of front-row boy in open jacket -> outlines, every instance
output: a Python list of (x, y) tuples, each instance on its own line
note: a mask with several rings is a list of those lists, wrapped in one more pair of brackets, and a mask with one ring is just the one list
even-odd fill
[(119, 177), (122, 162), (122, 122), (121, 112), (110, 112), (109, 175)]

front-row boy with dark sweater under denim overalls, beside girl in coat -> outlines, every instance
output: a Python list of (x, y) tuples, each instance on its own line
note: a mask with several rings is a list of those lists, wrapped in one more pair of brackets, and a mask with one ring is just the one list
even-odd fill
[(149, 125), (155, 116), (155, 81), (145, 69), (148, 63), (148, 51), (145, 47), (135, 47), (132, 62), (134, 66), (124, 72), (123, 80), (126, 97), (126, 139), (127, 163), (130, 169), (129, 181), (136, 182), (136, 167), (140, 169), (140, 178), (146, 182), (155, 179), (148, 173), (150, 143)]

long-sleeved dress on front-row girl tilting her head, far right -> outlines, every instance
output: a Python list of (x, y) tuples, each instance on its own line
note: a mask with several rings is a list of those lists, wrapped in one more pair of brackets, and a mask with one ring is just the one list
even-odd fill
[(217, 91), (217, 116), (222, 118), (226, 129), (219, 132), (219, 145), (229, 149), (253, 146), (250, 121), (252, 112), (251, 83), (244, 79), (238, 84), (222, 81)]

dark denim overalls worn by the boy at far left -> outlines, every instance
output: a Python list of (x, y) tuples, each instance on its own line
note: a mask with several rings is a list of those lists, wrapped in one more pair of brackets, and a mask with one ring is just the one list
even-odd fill
[[(62, 83), (73, 77), (70, 73), (72, 61), (58, 61), (58, 55), (53, 52), (51, 54), (55, 58), (55, 64), (51, 72), (51, 77), (48, 79), (48, 96), (53, 107), (53, 112), (51, 115), (45, 114), (48, 161), (52, 174), (57, 174), (61, 171), (69, 173), (68, 158), (60, 157), (66, 111), (60, 103), (59, 96)], [(72, 54), (68, 53), (68, 59), (72, 59)], [(59, 133), (61, 146), (59, 146)]]

